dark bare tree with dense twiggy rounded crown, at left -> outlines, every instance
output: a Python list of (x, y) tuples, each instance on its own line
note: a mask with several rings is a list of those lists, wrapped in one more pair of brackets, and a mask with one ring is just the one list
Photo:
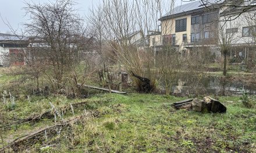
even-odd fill
[(63, 89), (67, 82), (64, 75), (79, 63), (79, 53), (83, 50), (79, 46), (84, 32), (83, 20), (74, 9), (75, 1), (25, 4), (24, 10), (30, 16), (30, 22), (25, 24), (26, 32), (33, 36), (31, 45), (37, 49), (37, 62), (44, 65), (42, 72), (52, 89)]

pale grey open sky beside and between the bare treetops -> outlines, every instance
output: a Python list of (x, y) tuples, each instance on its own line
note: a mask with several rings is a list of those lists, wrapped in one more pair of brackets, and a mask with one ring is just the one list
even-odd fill
[[(31, 0), (26, 0), (27, 2)], [(33, 2), (47, 2), (47, 1), (55, 1), (55, 0), (32, 0)], [(86, 15), (88, 13), (88, 9), (93, 5), (97, 5), (102, 0), (77, 0), (77, 9), (79, 9), (79, 13), (81, 15)], [(163, 0), (170, 1), (170, 0)], [(21, 28), (22, 23), (26, 22), (26, 17), (24, 17), (24, 1), (23, 0), (0, 0), (0, 14), (3, 17), (3, 20), (8, 20), (10, 25), (13, 28)], [(176, 5), (184, 4), (181, 0), (176, 0)], [(9, 28), (0, 20), (0, 32), (6, 33), (10, 31)]]

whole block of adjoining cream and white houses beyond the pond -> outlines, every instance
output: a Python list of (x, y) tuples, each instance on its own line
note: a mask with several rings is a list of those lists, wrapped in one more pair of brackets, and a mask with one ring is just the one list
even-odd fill
[[(252, 17), (255, 18), (255, 9), (241, 14), (243, 7), (219, 7), (221, 5), (215, 6), (214, 0), (208, 2), (211, 5), (205, 6), (201, 1), (180, 5), (161, 17), (159, 19), (161, 32), (150, 35), (151, 48), (172, 45), (180, 51), (186, 50), (187, 53), (202, 49), (220, 56), (221, 32), (225, 32), (225, 37), (227, 34), (232, 34), (232, 45), (237, 46), (230, 51), (230, 58), (232, 56), (248, 57), (248, 48), (244, 48), (244, 45), (255, 42), (253, 33), (256, 20), (252, 19)], [(240, 2), (239, 5), (255, 5), (255, 3), (256, 1)], [(240, 15), (237, 17), (236, 14)]]

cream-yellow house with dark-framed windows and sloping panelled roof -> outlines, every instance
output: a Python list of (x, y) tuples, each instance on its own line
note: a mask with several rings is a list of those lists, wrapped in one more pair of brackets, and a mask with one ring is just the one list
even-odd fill
[(172, 45), (180, 51), (215, 46), (218, 17), (219, 9), (206, 9), (200, 1), (177, 6), (159, 19), (161, 34), (150, 35), (150, 46)]

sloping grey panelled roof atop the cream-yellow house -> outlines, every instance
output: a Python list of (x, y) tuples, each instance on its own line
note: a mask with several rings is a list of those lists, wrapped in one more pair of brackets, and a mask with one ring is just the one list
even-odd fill
[(186, 3), (184, 5), (177, 6), (172, 11), (165, 14), (163, 17), (174, 15), (174, 14), (179, 14), (179, 13), (184, 13), (184, 12), (189, 12), (191, 10), (201, 9), (201, 8), (204, 8), (205, 5), (213, 5), (213, 4), (221, 3), (221, 2), (222, 1), (219, 1), (219, 0), (202, 0), (202, 1), (194, 1), (191, 3)]

